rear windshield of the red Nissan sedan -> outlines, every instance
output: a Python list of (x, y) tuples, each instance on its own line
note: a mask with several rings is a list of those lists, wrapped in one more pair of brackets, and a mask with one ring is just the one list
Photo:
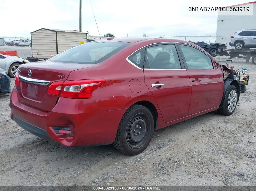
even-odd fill
[(94, 41), (75, 46), (48, 60), (52, 62), (97, 64), (130, 44), (116, 41)]

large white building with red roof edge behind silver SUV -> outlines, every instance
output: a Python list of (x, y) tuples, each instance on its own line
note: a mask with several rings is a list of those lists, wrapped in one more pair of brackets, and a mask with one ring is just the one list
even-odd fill
[[(253, 3), (253, 16), (249, 15), (219, 15), (217, 21), (217, 31), (216, 31), (216, 43), (227, 43), (227, 48), (231, 48), (229, 45), (230, 36), (236, 31), (256, 29), (256, 1)], [(245, 6), (246, 3), (239, 5), (231, 5), (228, 7), (240, 7)], [(220, 11), (218, 12), (220, 13)], [(218, 37), (220, 36), (220, 37)]]

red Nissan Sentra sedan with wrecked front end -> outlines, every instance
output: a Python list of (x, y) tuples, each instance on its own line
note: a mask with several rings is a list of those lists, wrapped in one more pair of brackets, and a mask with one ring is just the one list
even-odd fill
[(187, 41), (109, 37), (20, 65), (10, 117), (62, 145), (113, 143), (136, 155), (155, 130), (214, 110), (231, 115), (234, 72)]

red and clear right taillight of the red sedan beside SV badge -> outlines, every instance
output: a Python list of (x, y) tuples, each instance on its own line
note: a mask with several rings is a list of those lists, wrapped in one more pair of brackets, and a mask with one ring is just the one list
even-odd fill
[(67, 98), (92, 98), (91, 93), (105, 81), (105, 79), (57, 81), (49, 86), (47, 93)]

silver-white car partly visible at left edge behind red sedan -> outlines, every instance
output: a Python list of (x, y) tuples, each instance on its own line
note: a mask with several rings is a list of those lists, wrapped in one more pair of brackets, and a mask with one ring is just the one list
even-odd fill
[(15, 73), (18, 71), (18, 67), (21, 64), (29, 63), (28, 60), (18, 56), (7, 56), (0, 54), (0, 68), (11, 77), (15, 77)]

